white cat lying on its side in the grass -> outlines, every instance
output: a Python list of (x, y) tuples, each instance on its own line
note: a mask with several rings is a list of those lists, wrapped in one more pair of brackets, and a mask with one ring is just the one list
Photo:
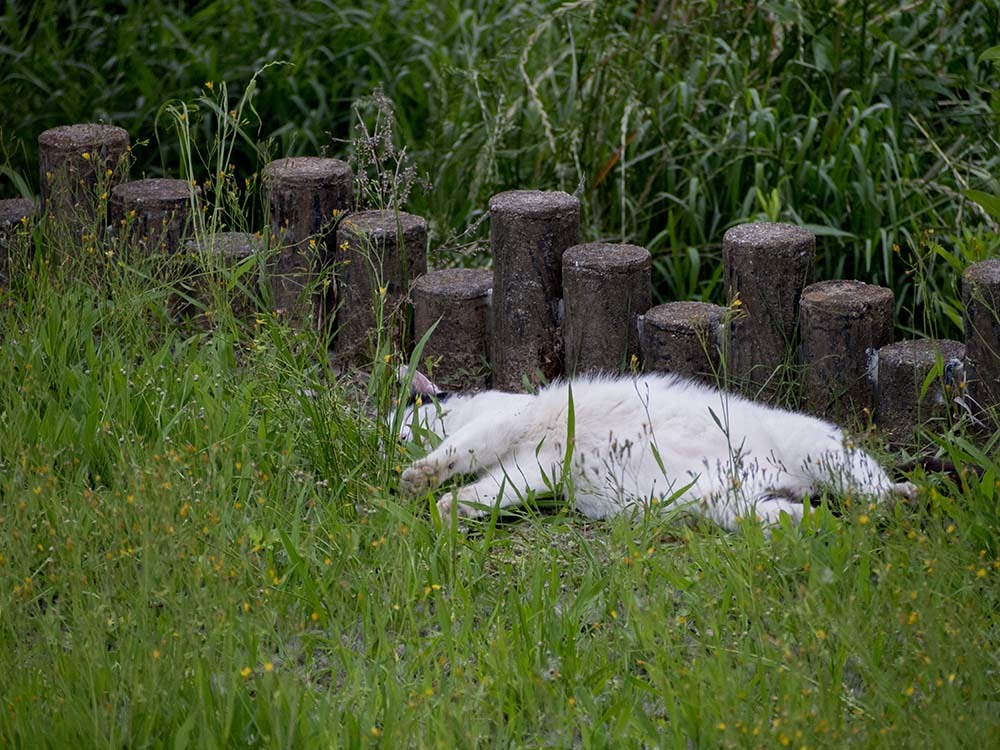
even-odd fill
[(422, 494), (454, 476), (475, 477), (438, 501), (445, 521), (452, 510), (482, 516), (561, 490), (591, 518), (670, 502), (734, 529), (741, 517), (798, 521), (803, 499), (824, 490), (876, 500), (915, 491), (893, 483), (828, 422), (672, 375), (439, 398), (417, 373), (412, 390), (424, 400), (408, 411), (401, 437), (420, 437), (419, 426), (442, 440), (403, 472), (401, 488)]

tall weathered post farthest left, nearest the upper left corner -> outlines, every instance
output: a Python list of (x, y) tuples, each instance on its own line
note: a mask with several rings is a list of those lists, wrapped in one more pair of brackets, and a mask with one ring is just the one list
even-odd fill
[[(60, 222), (89, 225), (99, 201), (128, 178), (128, 132), (114, 125), (63, 125), (38, 136), (42, 208)], [(100, 189), (98, 189), (100, 188)]]

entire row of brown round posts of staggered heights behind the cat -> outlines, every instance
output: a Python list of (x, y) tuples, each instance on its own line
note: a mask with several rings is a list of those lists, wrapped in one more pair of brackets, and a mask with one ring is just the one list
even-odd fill
[[(129, 181), (121, 168), (128, 148), (128, 134), (113, 126), (43, 133), (43, 210), (55, 220), (85, 222), (97, 186), (106, 185), (113, 226), (128, 217), (147, 246), (190, 248), (185, 233), (197, 188), (183, 180)], [(792, 225), (726, 232), (726, 307), (654, 307), (649, 253), (635, 245), (580, 244), (579, 201), (563, 192), (494, 196), (492, 270), (428, 272), (426, 222), (398, 211), (351, 213), (347, 163), (279, 159), (263, 179), (278, 241), (269, 265), (274, 304), (297, 321), (332, 315), (335, 305), (334, 352), (344, 365), (371, 361), (374, 329), (388, 320), (377, 308), (412, 304), (413, 330), (403, 340), (412, 343), (436, 324), (424, 355), (450, 387), (519, 390), (639, 365), (736, 384), (766, 399), (777, 393), (775, 374), (791, 359), (801, 369), (807, 411), (852, 421), (868, 410), (894, 441), (908, 440), (917, 425), (949, 414), (956, 403), (973, 417), (1000, 405), (1000, 259), (963, 275), (964, 342), (893, 343), (892, 290), (850, 280), (813, 283), (816, 238)], [(34, 210), (31, 201), (0, 201), (0, 239), (3, 226)], [(194, 247), (234, 262), (258, 245), (251, 235), (225, 234), (199, 238)], [(329, 295), (318, 300), (310, 291), (334, 266), (331, 304)]]

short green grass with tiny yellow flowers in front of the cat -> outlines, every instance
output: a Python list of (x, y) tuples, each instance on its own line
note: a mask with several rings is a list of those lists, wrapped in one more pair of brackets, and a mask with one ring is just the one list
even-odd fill
[(0, 297), (5, 745), (996, 742), (983, 444), (938, 436), (960, 485), (770, 539), (662, 509), (442, 529), (395, 494), (381, 358), (359, 392), (266, 314), (177, 325), (162, 276), (54, 236)]

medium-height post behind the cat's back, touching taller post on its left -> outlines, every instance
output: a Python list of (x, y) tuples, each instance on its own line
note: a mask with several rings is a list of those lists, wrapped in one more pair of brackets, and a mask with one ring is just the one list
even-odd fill
[(593, 242), (563, 253), (564, 370), (623, 372), (639, 356), (639, 316), (649, 309), (649, 251)]

